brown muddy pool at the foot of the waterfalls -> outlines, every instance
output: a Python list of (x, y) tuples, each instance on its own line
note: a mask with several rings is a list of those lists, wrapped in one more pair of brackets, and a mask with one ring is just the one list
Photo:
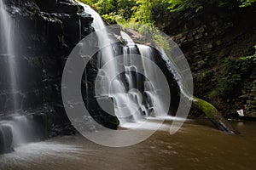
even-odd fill
[(0, 156), (0, 169), (256, 169), (256, 122), (232, 124), (240, 135), (219, 132), (206, 121), (189, 121), (174, 135), (161, 128), (144, 142), (125, 148), (104, 147), (80, 135), (59, 137)]

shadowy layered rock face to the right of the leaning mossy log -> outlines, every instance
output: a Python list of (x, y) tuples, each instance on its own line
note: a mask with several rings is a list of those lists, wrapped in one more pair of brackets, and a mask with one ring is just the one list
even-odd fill
[[(207, 6), (172, 13), (166, 32), (189, 61), (195, 96), (206, 99), (225, 116), (256, 116), (255, 62), (241, 57), (255, 53), (255, 6)], [(189, 19), (188, 19), (189, 16)]]

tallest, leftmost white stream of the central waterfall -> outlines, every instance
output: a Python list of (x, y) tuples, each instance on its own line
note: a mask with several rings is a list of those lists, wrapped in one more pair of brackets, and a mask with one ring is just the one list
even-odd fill
[[(95, 10), (84, 3), (79, 4), (84, 7), (86, 13), (91, 14), (94, 18), (92, 26), (95, 28), (96, 35), (100, 39), (99, 43), (108, 44), (110, 37), (108, 36), (108, 31), (105, 29), (106, 26), (100, 14), (96, 13)], [(118, 76), (121, 69), (114, 61), (114, 53), (111, 45), (101, 50), (98, 60), (100, 61), (98, 65), (100, 68), (98, 77), (100, 77), (101, 80), (100, 84), (96, 84), (96, 94), (113, 98), (114, 111), (119, 117), (121, 124), (127, 121), (127, 117), (130, 117), (130, 120), (137, 121), (139, 118), (139, 114), (137, 114), (137, 102), (134, 102), (133, 99), (137, 98), (137, 101), (140, 100), (138, 99), (139, 95), (134, 91), (129, 92), (125, 89), (124, 82)]]

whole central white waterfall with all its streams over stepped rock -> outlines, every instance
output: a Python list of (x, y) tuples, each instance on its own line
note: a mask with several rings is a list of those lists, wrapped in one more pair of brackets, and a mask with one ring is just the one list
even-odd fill
[[(100, 14), (84, 3), (79, 3), (84, 7), (84, 11), (89, 13), (94, 18), (92, 26), (96, 30), (96, 35), (99, 37), (99, 43), (108, 44), (110, 38), (108, 31)], [(143, 45), (137, 45), (132, 41), (125, 32), (120, 32), (121, 37), (125, 41), (123, 47), (122, 59), (115, 59), (111, 44), (108, 47), (101, 49), (98, 56), (99, 63), (99, 81), (96, 83), (96, 95), (112, 97), (114, 101), (115, 115), (119, 117), (120, 125), (125, 126), (130, 122), (142, 122), (145, 116), (167, 116), (168, 109), (163, 99), (163, 94), (158, 94), (157, 86), (152, 86), (151, 82), (144, 80), (139, 75), (139, 70), (144, 70), (143, 75), (150, 75), (157, 84), (158, 75), (153, 68), (149, 68), (147, 62), (143, 59), (151, 59), (150, 48)], [(148, 52), (149, 51), (149, 52)], [(134, 54), (142, 54), (143, 57), (134, 57)], [(121, 65), (119, 65), (121, 62)], [(143, 68), (143, 69), (142, 69)], [(146, 73), (146, 74), (144, 74)], [(119, 74), (123, 74), (121, 78)], [(127, 85), (125, 86), (125, 82)], [(144, 82), (144, 85), (141, 84)], [(139, 88), (144, 88), (144, 91)], [(147, 96), (147, 101), (145, 101)], [(161, 96), (161, 97), (160, 97)]]

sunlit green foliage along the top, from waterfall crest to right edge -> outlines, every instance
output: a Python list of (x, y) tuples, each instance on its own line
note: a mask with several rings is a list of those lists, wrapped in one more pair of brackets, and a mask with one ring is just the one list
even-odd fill
[(171, 17), (171, 12), (195, 8), (195, 12), (208, 7), (247, 7), (256, 0), (79, 0), (93, 8), (108, 24), (139, 23), (156, 26), (163, 30)]

